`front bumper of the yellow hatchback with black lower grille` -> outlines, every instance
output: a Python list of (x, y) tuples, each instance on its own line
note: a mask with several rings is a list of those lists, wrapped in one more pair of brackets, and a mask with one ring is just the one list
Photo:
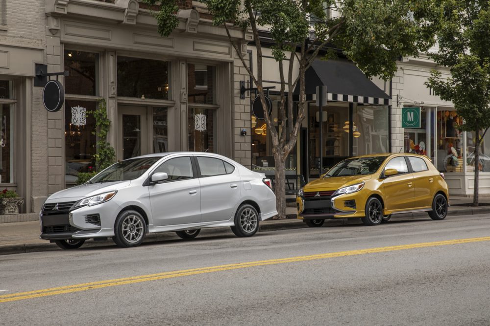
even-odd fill
[(357, 193), (318, 199), (296, 197), (296, 207), (299, 219), (364, 217), (364, 204)]

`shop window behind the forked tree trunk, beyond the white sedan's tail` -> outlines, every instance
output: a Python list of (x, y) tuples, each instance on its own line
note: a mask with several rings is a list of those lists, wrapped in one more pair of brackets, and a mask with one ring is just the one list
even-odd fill
[[(278, 106), (280, 102), (280, 96), (270, 95), (272, 101), (272, 110), (270, 118), (274, 124), (276, 130), (280, 128), (280, 121), (278, 118)], [(286, 108), (288, 104), (285, 104)], [(251, 140), (252, 140), (252, 169), (256, 171), (268, 171), (273, 170), (275, 167), (274, 156), (272, 155), (272, 139), (270, 132), (267, 130), (267, 124), (265, 120), (257, 119), (251, 114)], [(289, 139), (289, 130), (287, 130), (287, 139)], [(289, 153), (286, 159), (286, 172), (296, 174), (296, 147)]]

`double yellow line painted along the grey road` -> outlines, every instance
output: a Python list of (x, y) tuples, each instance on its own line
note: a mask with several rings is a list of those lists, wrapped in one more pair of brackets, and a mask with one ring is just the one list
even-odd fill
[(470, 239), (455, 239), (455, 240), (435, 241), (435, 242), (423, 242), (423, 243), (396, 245), (396, 246), (389, 246), (389, 247), (340, 251), (340, 252), (318, 254), (318, 255), (297, 256), (297, 257), (281, 258), (281, 259), (271, 259), (271, 260), (267, 260), (267, 261), (250, 261), (250, 262), (241, 262), (241, 263), (226, 264), (226, 265), (220, 265), (220, 266), (185, 269), (185, 270), (180, 270), (180, 271), (172, 271), (172, 272), (149, 274), (149, 275), (140, 275), (140, 276), (133, 276), (133, 277), (127, 277), (127, 278), (121, 278), (121, 279), (114, 279), (114, 280), (105, 280), (105, 281), (98, 281), (98, 282), (91, 282), (91, 283), (81, 283), (81, 284), (74, 284), (74, 285), (68, 285), (68, 286), (52, 287), (52, 288), (42, 289), (42, 290), (5, 294), (5, 295), (0, 295), (0, 303), (26, 300), (26, 299), (33, 299), (33, 298), (40, 298), (40, 297), (46, 297), (46, 296), (64, 294), (64, 293), (86, 291), (86, 290), (98, 289), (98, 288), (109, 287), (109, 286), (141, 283), (141, 282), (156, 281), (156, 280), (164, 280), (164, 279), (170, 279), (170, 278), (176, 278), (176, 277), (182, 277), (182, 276), (190, 276), (190, 275), (197, 275), (197, 274), (204, 274), (204, 273), (213, 273), (213, 272), (220, 272), (220, 271), (240, 269), (240, 268), (248, 268), (248, 267), (255, 267), (255, 266), (274, 265), (274, 264), (290, 263), (290, 262), (298, 262), (298, 261), (313, 261), (313, 260), (327, 259), (327, 258), (336, 258), (336, 257), (345, 257), (345, 256), (354, 256), (354, 255), (365, 255), (365, 254), (373, 254), (373, 253), (396, 251), (396, 250), (427, 248), (427, 247), (436, 247), (436, 246), (471, 243), (471, 242), (481, 242), (481, 241), (490, 241), (490, 237), (470, 238)]

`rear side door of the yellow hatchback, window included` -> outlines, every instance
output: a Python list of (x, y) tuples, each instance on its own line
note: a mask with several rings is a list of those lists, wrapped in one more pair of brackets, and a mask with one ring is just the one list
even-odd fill
[(415, 208), (432, 205), (432, 189), (434, 188), (434, 172), (430, 171), (427, 163), (421, 157), (408, 156), (414, 172)]

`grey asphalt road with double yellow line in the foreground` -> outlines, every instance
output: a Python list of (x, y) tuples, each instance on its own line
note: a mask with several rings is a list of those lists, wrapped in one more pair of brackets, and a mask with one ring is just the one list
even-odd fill
[(0, 325), (489, 325), (489, 221), (0, 256)]

